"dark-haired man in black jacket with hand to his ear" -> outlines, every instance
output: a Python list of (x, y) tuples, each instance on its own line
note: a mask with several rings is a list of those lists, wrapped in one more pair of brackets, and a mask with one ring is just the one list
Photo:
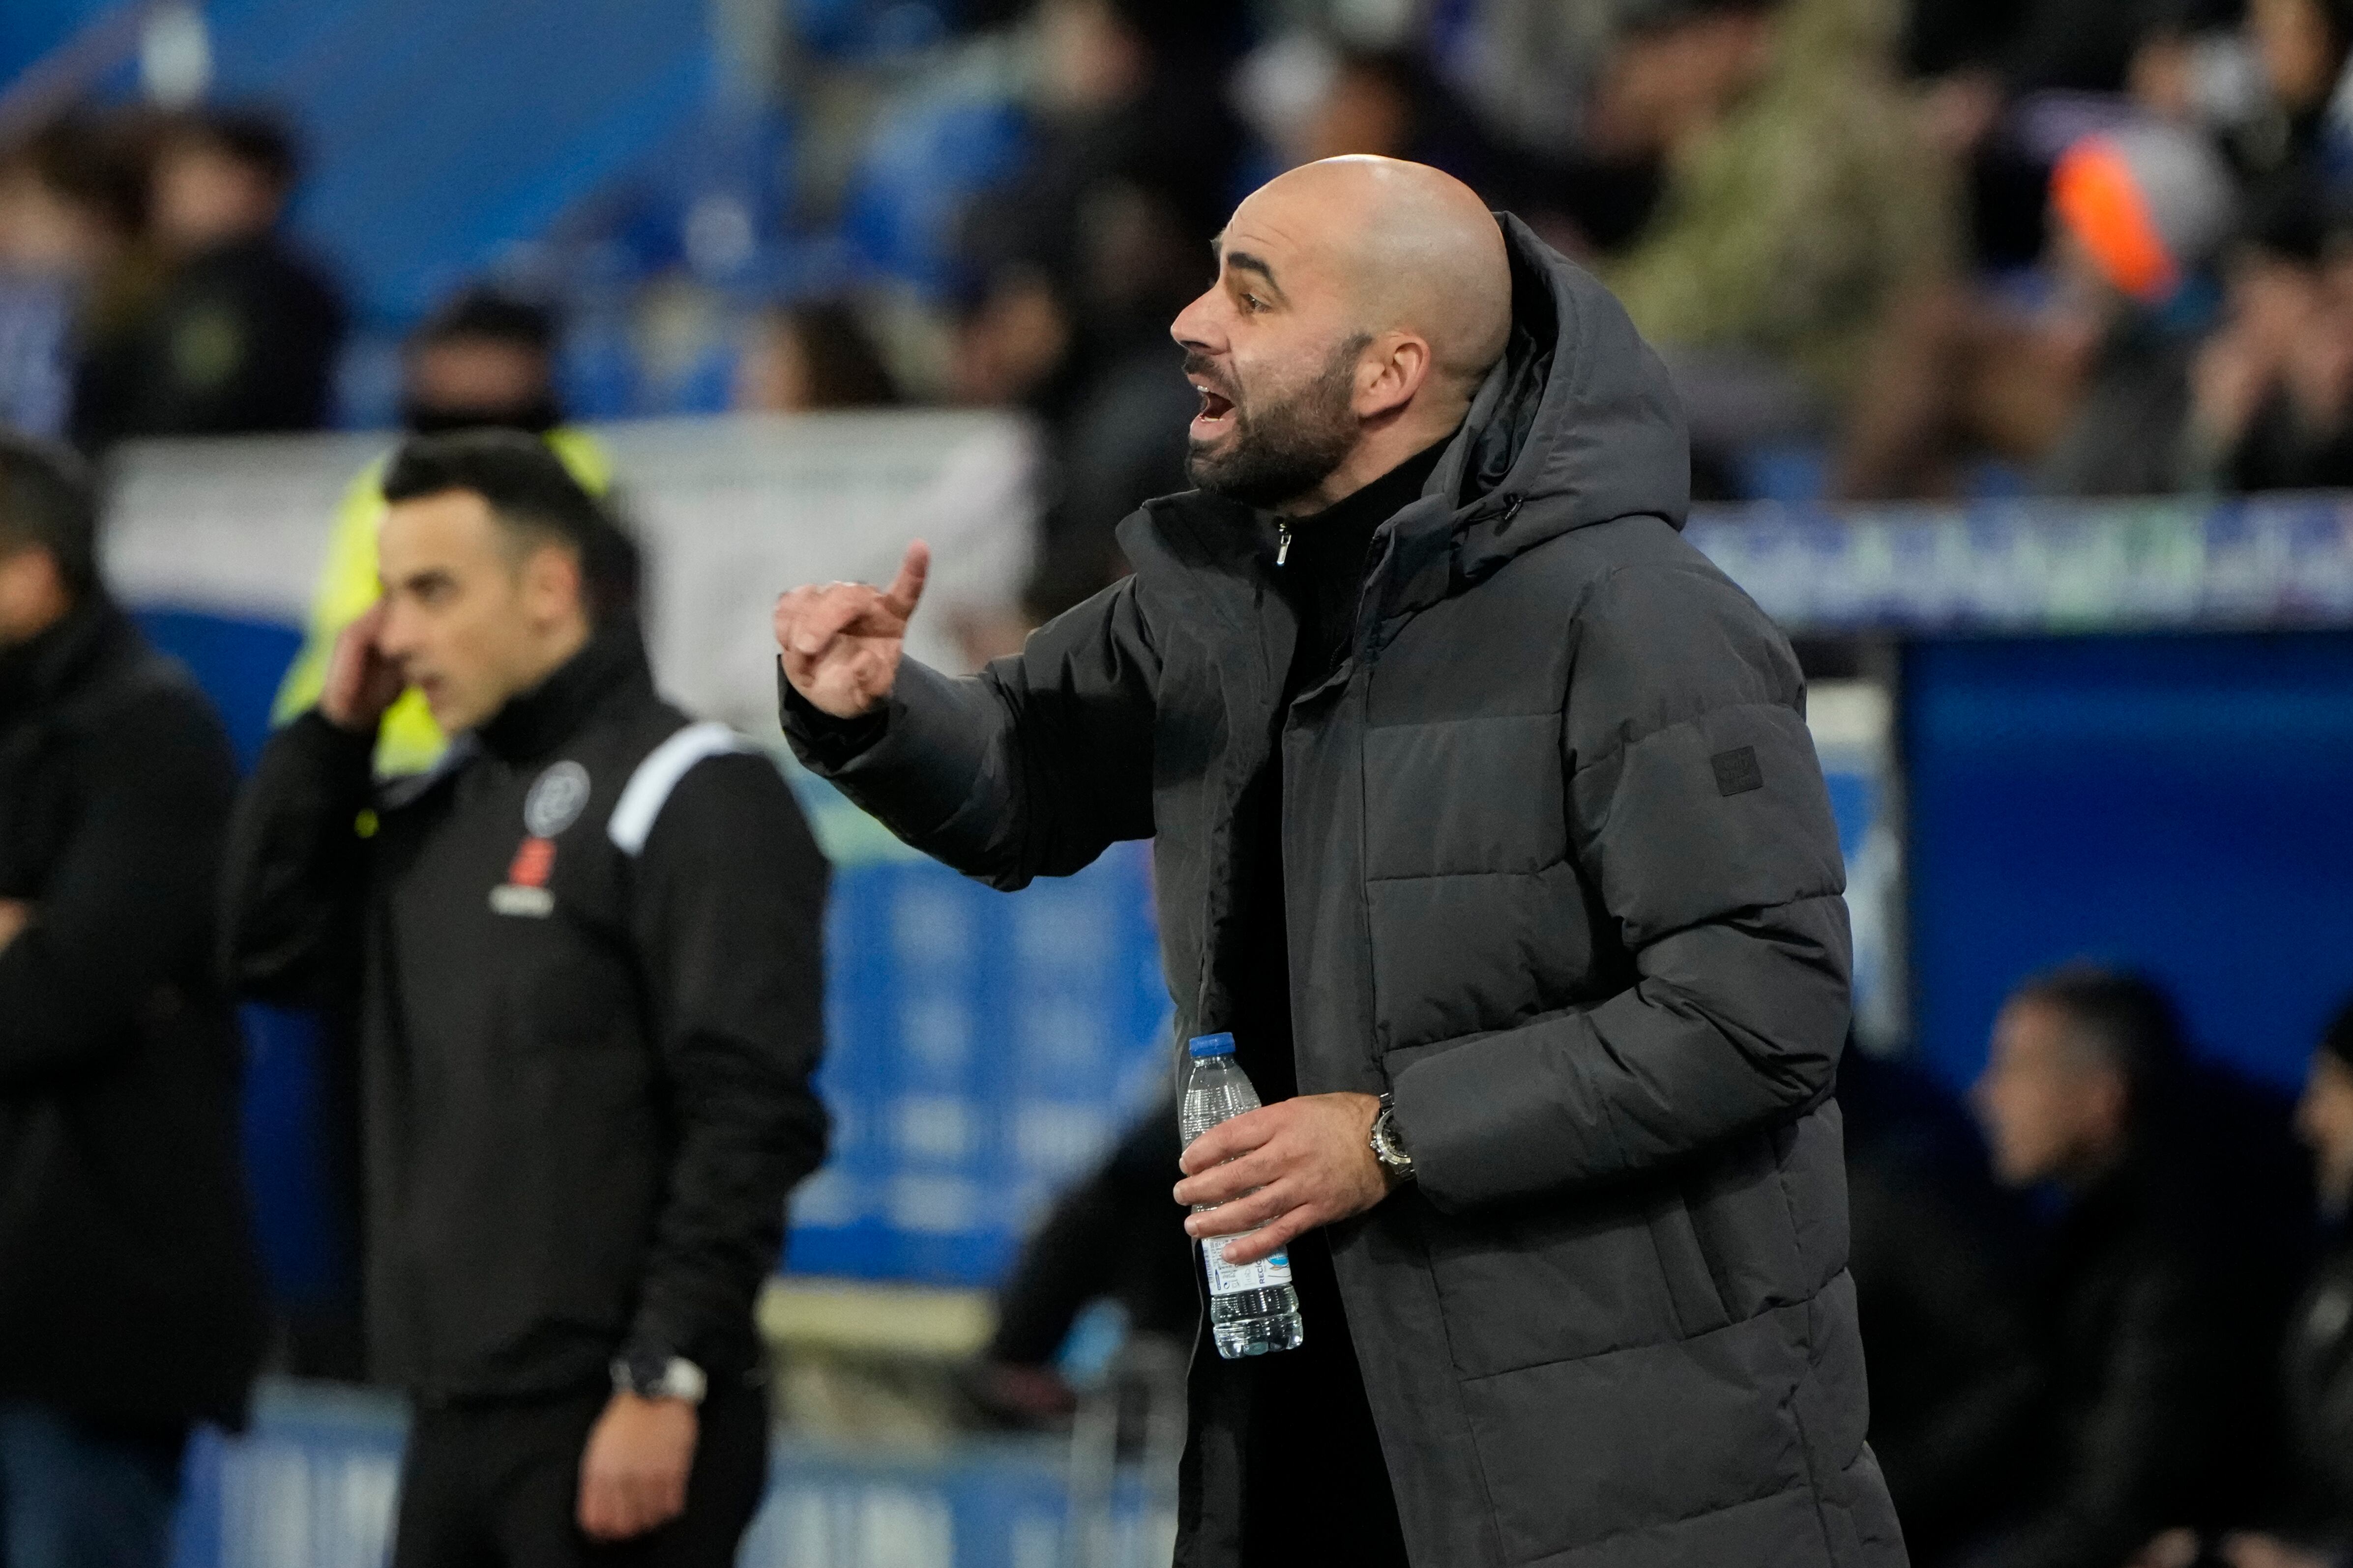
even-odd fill
[[(826, 863), (767, 757), (654, 693), (635, 545), (541, 440), (412, 440), (384, 496), (386, 597), (240, 806), (228, 964), (362, 1018), (369, 1347), (419, 1406), (395, 1563), (718, 1568), (826, 1143)], [(464, 745), (379, 792), (409, 684)]]

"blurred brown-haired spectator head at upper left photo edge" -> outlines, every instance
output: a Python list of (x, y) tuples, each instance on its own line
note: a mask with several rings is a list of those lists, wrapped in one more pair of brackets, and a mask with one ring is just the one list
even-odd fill
[(146, 228), (146, 158), (127, 129), (68, 115), (0, 153), (0, 268), (82, 273)]

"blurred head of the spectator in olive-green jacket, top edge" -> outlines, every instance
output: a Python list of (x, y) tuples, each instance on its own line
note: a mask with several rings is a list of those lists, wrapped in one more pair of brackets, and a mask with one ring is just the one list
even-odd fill
[(1593, 99), (1595, 148), (1657, 158), (1708, 129), (1774, 63), (1784, 0), (1628, 0)]

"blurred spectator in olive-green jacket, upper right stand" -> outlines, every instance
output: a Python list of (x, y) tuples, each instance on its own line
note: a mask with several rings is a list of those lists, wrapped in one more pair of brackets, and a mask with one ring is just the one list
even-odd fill
[(1824, 437), (1887, 310), (1953, 268), (1953, 197), (1892, 78), (1885, 0), (1638, 0), (1598, 134), (1666, 160), (1659, 209), (1602, 268), (1666, 357), (1694, 482)]

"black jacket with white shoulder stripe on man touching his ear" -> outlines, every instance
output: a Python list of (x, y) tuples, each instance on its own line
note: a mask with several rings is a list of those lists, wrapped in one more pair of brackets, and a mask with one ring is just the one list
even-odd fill
[(826, 863), (776, 766), (654, 693), (614, 623), (449, 759), (374, 790), (306, 715), (238, 806), (256, 997), (358, 990), (374, 1371), (426, 1403), (758, 1366), (819, 1166)]

